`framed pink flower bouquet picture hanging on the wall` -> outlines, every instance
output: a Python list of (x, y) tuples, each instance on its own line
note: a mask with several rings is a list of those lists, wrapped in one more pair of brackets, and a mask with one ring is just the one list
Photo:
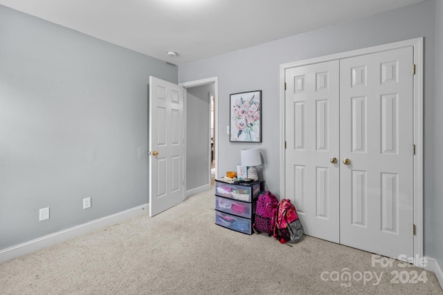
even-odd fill
[(230, 142), (262, 142), (262, 91), (230, 95)]

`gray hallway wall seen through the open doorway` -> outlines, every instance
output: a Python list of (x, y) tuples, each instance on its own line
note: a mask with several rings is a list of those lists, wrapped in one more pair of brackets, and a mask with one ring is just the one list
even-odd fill
[(186, 189), (208, 184), (210, 173), (210, 93), (215, 84), (187, 89), (186, 95)]

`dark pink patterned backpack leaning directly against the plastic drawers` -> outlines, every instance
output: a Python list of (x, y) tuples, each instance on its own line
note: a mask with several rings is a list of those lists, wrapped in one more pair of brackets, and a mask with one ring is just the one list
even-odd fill
[(266, 233), (268, 236), (273, 234), (277, 207), (278, 198), (270, 191), (262, 191), (258, 195), (255, 222), (252, 226), (257, 234)]

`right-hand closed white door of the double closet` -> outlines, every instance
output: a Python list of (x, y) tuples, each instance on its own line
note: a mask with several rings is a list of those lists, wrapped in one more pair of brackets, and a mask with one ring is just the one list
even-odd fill
[(413, 256), (412, 65), (412, 47), (340, 61), (340, 242), (389, 257)]

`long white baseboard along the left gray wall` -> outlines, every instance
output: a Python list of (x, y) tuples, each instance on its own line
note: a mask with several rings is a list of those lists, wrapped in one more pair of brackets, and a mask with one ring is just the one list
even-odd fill
[(116, 223), (120, 220), (137, 216), (142, 213), (148, 213), (148, 206), (149, 204), (143, 204), (132, 209), (127, 209), (125, 211), (105, 216), (103, 218), (92, 220), (82, 225), (71, 227), (70, 229), (64, 229), (62, 231), (57, 231), (54, 234), (49, 234), (47, 236), (36, 238), (35, 240), (23, 242), (19, 245), (15, 245), (6, 249), (0, 249), (0, 263), (24, 254), (28, 254), (33, 251), (37, 251), (39, 249), (43, 249), (44, 247), (57, 244), (58, 242), (63, 242), (64, 240), (75, 238), (76, 236), (80, 236), (82, 234), (87, 234), (90, 231), (95, 231), (107, 225)]

